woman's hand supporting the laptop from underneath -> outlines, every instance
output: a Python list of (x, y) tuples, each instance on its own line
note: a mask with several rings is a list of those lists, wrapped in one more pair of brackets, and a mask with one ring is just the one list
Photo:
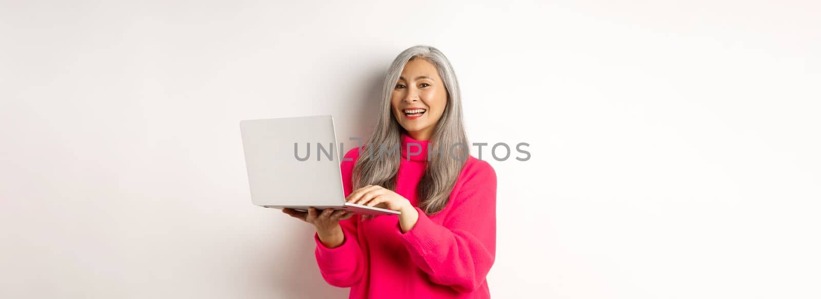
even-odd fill
[(340, 220), (350, 219), (354, 214), (344, 209), (334, 211), (331, 208), (324, 209), (321, 213), (316, 208), (310, 207), (307, 212), (300, 212), (296, 209), (282, 209), (282, 213), (291, 217), (311, 223), (316, 228), (317, 237), (323, 245), (333, 248), (342, 245), (345, 236), (342, 235), (342, 228), (339, 226)]

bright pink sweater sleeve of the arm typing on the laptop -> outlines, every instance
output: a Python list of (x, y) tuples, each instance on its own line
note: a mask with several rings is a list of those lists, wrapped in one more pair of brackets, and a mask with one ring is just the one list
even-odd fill
[(401, 240), (410, 258), (433, 283), (458, 292), (480, 288), (496, 256), (496, 173), (489, 163), (477, 160), (443, 224), (419, 212), (413, 228)]

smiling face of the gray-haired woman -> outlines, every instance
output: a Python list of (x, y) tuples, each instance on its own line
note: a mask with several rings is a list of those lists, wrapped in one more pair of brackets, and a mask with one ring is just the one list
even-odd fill
[(446, 104), (447, 90), (433, 63), (418, 57), (407, 62), (393, 87), (391, 110), (408, 135), (429, 140)]

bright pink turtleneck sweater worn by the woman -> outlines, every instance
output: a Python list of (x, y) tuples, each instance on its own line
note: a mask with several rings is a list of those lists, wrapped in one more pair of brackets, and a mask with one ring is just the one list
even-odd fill
[[(422, 151), (407, 159), (407, 143)], [(399, 195), (417, 207), (419, 220), (402, 233), (399, 216), (342, 220), (345, 241), (328, 248), (316, 242), (322, 277), (333, 286), (351, 288), (349, 298), (490, 298), (488, 274), (496, 255), (496, 173), (489, 163), (470, 156), (445, 208), (428, 216), (418, 208), (416, 185), (424, 173), (428, 140), (402, 135)], [(410, 145), (411, 153), (419, 147)], [(374, 151), (374, 156), (378, 151)], [(342, 162), (345, 196), (359, 149)], [(365, 149), (365, 154), (367, 150)]]

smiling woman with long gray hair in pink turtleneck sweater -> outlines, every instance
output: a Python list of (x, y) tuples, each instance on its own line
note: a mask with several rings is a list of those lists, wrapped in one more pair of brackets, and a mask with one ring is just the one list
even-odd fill
[(401, 215), (283, 212), (314, 224), (320, 273), (350, 298), (489, 298), (496, 173), (469, 154), (447, 57), (429, 46), (400, 53), (381, 111), (365, 146), (345, 154), (342, 182), (347, 202)]

